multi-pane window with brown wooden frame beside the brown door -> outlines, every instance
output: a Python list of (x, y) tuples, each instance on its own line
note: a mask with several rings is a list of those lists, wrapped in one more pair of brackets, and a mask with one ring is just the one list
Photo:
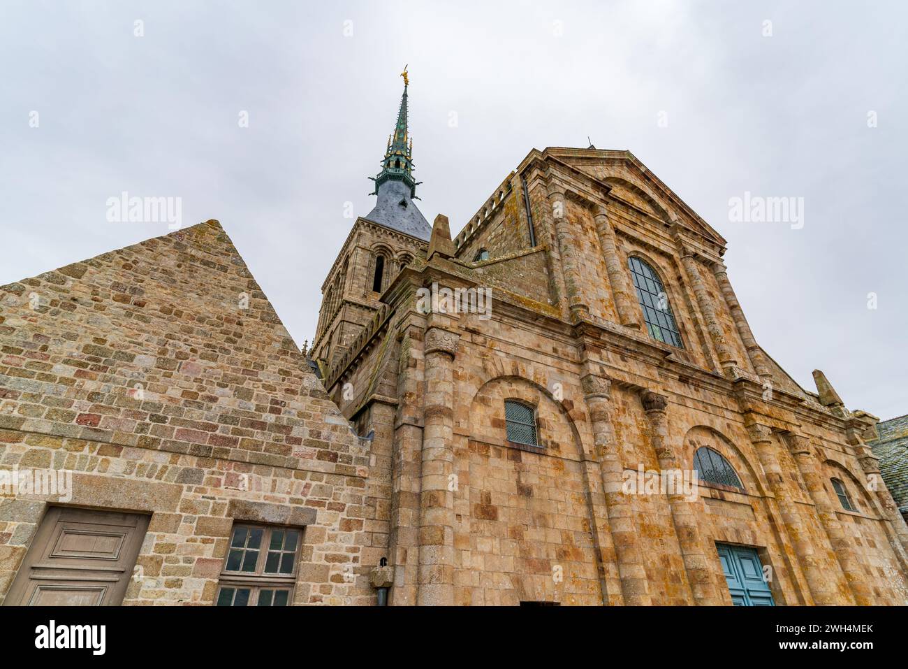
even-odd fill
[(235, 525), (215, 604), (288, 606), (293, 599), (301, 537), (297, 528)]

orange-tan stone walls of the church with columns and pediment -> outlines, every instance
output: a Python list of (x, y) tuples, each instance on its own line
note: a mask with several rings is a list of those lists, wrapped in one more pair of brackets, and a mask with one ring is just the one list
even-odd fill
[[(718, 544), (755, 549), (775, 604), (908, 602), (908, 529), (864, 443), (869, 415), (765, 354), (725, 240), (637, 158), (534, 150), (447, 230), (439, 216), (426, 244), (357, 221), (326, 282), (342, 286), (329, 311), (356, 315), (340, 340), (323, 319), (312, 351), (372, 435), (391, 604), (731, 604)], [(413, 258), (380, 295), (363, 260), (378, 254)], [(647, 331), (630, 257), (661, 277), (683, 347)], [(491, 311), (420, 308), (432, 285), (491, 288)], [(533, 407), (537, 445), (508, 441), (506, 400)], [(625, 489), (640, 468), (691, 470), (703, 446), (740, 486)]]

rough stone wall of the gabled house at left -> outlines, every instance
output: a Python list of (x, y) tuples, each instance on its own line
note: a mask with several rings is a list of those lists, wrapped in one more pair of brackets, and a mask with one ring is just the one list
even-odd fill
[[(212, 604), (231, 528), (303, 530), (296, 604), (369, 604), (369, 454), (217, 221), (0, 289), (0, 470), (150, 514), (123, 604)], [(0, 497), (0, 598), (49, 504)]]

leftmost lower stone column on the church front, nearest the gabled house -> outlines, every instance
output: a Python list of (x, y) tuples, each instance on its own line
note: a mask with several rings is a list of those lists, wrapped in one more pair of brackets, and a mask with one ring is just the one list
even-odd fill
[(400, 340), (398, 397), (391, 454), (388, 558), (394, 567), (390, 604), (416, 604), (419, 581), (419, 479), (422, 470), (422, 328), (410, 325)]

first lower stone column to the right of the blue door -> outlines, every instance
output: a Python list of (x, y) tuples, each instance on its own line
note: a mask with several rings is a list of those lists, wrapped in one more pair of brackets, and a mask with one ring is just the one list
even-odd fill
[[(785, 535), (793, 544), (793, 551), (798, 564), (804, 572), (807, 588), (815, 604), (842, 604), (835, 596), (834, 588), (830, 587), (828, 574), (824, 574), (823, 565), (819, 564), (814, 543), (810, 535), (805, 532), (797, 505), (788, 486), (785, 484), (785, 475), (782, 474), (782, 465), (779, 464), (773, 443), (773, 431), (768, 425), (754, 423), (747, 427), (750, 441), (754, 444), (756, 456), (763, 466), (769, 489), (775, 496), (779, 513), (782, 515), (782, 525)], [(793, 574), (794, 576), (794, 574)]]

